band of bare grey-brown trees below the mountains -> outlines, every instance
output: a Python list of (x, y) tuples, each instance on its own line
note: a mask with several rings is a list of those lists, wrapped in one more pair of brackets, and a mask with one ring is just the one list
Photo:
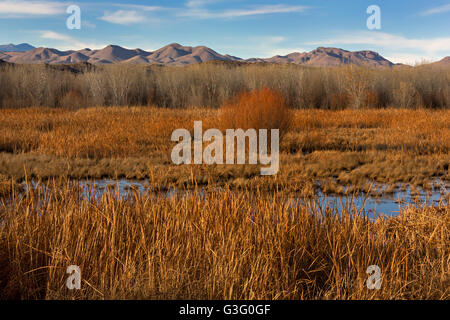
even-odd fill
[(290, 108), (448, 108), (450, 69), (206, 63), (188, 67), (14, 65), (0, 69), (0, 108), (214, 107), (269, 88)]

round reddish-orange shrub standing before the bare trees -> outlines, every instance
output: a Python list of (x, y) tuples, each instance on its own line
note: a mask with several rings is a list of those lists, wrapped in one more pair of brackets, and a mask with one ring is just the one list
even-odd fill
[(263, 88), (243, 92), (221, 109), (222, 129), (279, 129), (280, 136), (291, 127), (291, 111), (283, 95)]

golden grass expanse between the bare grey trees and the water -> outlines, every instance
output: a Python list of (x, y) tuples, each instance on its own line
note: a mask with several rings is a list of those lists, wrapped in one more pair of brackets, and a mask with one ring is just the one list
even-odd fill
[[(257, 166), (181, 166), (170, 161), (174, 129), (222, 125), (221, 111), (205, 108), (92, 108), (0, 112), (0, 174), (74, 179), (151, 179), (156, 187), (261, 184), (303, 192), (366, 192), (371, 182), (407, 183), (426, 189), (435, 178), (450, 180), (450, 111), (298, 110), (281, 140), (276, 177)], [(24, 170), (26, 169), (26, 170)], [(195, 176), (195, 181), (192, 179)], [(352, 190), (352, 189), (347, 189)], [(311, 194), (311, 192), (306, 192)]]

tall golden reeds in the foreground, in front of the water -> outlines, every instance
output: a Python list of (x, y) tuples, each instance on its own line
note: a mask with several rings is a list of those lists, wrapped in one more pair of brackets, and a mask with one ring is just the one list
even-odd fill
[[(0, 297), (449, 299), (449, 226), (443, 203), (370, 220), (283, 190), (96, 197), (54, 180), (0, 200)], [(69, 265), (81, 290), (66, 288)]]

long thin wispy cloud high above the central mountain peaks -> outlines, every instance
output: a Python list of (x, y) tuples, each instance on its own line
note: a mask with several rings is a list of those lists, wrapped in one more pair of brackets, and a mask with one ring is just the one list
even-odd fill
[[(192, 1), (191, 1), (192, 2)], [(307, 6), (286, 6), (283, 4), (257, 6), (248, 9), (230, 9), (224, 11), (207, 10), (200, 7), (200, 2), (194, 1), (194, 4), (188, 3), (190, 9), (180, 12), (178, 15), (182, 17), (191, 17), (198, 19), (230, 19), (245, 16), (268, 15), (276, 13), (298, 13), (304, 12)]]

